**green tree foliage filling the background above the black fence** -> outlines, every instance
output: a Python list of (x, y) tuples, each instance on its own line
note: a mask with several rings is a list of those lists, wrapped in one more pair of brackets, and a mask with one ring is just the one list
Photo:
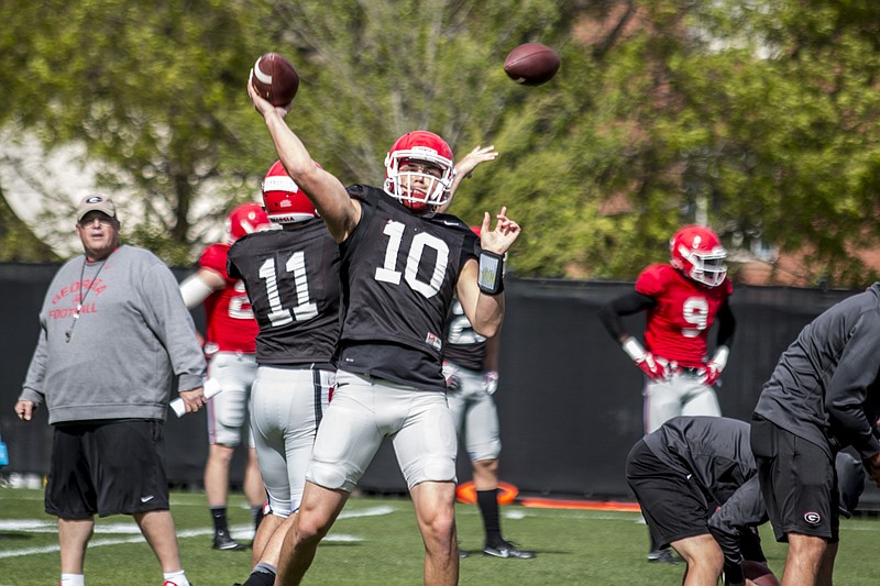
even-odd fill
[[(873, 276), (854, 254), (880, 244), (868, 0), (10, 0), (0, 20), (0, 123), (85, 143), (128, 235), (175, 262), (274, 161), (243, 86), (278, 51), (301, 77), (288, 123), (345, 183), (380, 183), (408, 130), (495, 144), (452, 211), (508, 206), (520, 275), (632, 278), (698, 220), (805, 253), (807, 283)], [(551, 82), (505, 77), (526, 41), (560, 52)]]

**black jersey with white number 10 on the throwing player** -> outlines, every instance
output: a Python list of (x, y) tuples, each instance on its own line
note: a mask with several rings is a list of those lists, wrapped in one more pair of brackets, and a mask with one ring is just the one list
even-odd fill
[(339, 367), (444, 391), (446, 318), (464, 264), (479, 257), (476, 235), (454, 215), (416, 215), (375, 187), (348, 190), (362, 217), (340, 246)]

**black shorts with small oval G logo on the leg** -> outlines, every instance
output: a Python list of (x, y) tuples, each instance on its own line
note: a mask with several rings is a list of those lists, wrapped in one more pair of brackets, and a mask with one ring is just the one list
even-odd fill
[(801, 533), (836, 543), (840, 526), (837, 475), (825, 450), (754, 416), (751, 451), (777, 541)]

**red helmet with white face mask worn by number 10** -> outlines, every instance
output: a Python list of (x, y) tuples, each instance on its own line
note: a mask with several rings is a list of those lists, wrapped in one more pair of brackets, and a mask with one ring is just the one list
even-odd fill
[(414, 211), (449, 201), (455, 175), (452, 150), (437, 134), (404, 134), (385, 157), (385, 192)]

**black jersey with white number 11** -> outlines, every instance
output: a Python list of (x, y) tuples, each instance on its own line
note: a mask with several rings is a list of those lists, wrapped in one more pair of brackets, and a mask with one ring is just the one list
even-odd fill
[(339, 340), (339, 245), (319, 219), (255, 232), (229, 250), (228, 273), (244, 280), (258, 364), (332, 364)]

